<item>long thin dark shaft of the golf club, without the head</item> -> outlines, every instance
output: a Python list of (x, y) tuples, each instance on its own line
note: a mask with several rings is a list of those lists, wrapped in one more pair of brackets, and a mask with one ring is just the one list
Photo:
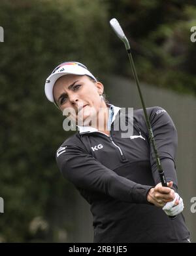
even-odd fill
[(148, 134), (150, 136), (150, 141), (152, 143), (152, 148), (153, 148), (153, 151), (154, 151), (154, 154), (155, 154), (155, 160), (156, 160), (156, 163), (157, 163), (157, 169), (159, 171), (159, 177), (161, 179), (161, 184), (162, 184), (162, 186), (167, 186), (167, 182), (166, 182), (166, 179), (165, 179), (165, 174), (164, 174), (163, 168), (161, 166), (161, 161), (160, 161), (160, 158), (159, 158), (159, 154), (157, 152), (157, 147), (156, 147), (156, 144), (155, 144), (154, 134), (153, 134), (152, 127), (151, 127), (151, 124), (150, 124), (150, 120), (149, 120), (149, 117), (148, 117), (148, 114), (147, 114), (147, 111), (146, 111), (146, 106), (145, 106), (145, 103), (144, 103), (142, 92), (141, 92), (141, 89), (140, 89), (139, 79), (137, 77), (137, 73), (136, 73), (136, 70), (135, 70), (135, 64), (133, 62), (131, 49), (127, 49), (127, 53), (128, 53), (128, 56), (129, 56), (129, 61), (130, 61), (130, 64), (131, 64), (133, 76), (134, 76), (135, 82), (137, 84), (137, 89), (139, 91), (140, 100), (142, 102), (144, 117), (146, 119), (146, 125), (148, 127)]

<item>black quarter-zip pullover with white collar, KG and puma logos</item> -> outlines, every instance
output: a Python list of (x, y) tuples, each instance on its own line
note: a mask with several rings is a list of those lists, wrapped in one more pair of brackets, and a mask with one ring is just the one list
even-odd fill
[[(146, 200), (160, 180), (143, 110), (134, 110), (130, 121), (127, 112), (112, 108), (110, 136), (93, 127), (80, 127), (56, 154), (63, 177), (91, 205), (94, 242), (180, 242), (188, 238), (182, 214), (169, 219)], [(176, 128), (163, 108), (148, 108), (147, 112), (165, 177), (177, 191)], [(126, 125), (133, 125), (133, 135), (127, 138), (122, 137), (125, 131), (114, 130), (123, 118)]]

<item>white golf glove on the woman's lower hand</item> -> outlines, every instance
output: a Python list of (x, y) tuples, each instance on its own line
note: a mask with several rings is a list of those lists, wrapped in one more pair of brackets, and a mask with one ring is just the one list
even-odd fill
[[(179, 200), (178, 205), (175, 205), (176, 200)], [(184, 203), (182, 198), (178, 195), (178, 193), (175, 193), (175, 198), (172, 202), (168, 202), (165, 204), (165, 206), (162, 208), (163, 211), (169, 216), (176, 216), (179, 213), (182, 213), (184, 209)]]

